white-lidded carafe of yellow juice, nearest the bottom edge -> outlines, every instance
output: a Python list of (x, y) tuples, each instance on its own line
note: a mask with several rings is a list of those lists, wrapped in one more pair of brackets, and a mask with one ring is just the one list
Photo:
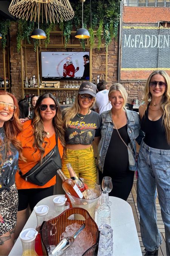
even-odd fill
[(37, 256), (35, 251), (35, 239), (38, 232), (34, 228), (26, 228), (20, 233), (22, 242), (22, 256)]

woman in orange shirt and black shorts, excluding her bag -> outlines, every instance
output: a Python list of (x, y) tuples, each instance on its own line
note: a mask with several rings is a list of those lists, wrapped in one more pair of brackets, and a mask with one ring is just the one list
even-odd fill
[[(65, 140), (59, 104), (53, 94), (45, 93), (37, 100), (34, 109), (34, 119), (23, 124), (23, 131), (17, 137), (22, 142), (22, 154), (26, 158), (26, 162), (19, 160), (19, 169), (22, 171), (22, 174), (31, 170), (33, 166), (40, 162), (54, 148), (56, 145), (56, 135), (58, 136), (60, 157), (62, 157)], [(39, 186), (26, 182), (17, 172), (15, 182), (19, 194), (18, 221), (15, 232), (15, 237), (17, 237), (27, 221), (28, 205), (32, 211), (40, 200), (53, 195), (56, 176), (45, 185)]]

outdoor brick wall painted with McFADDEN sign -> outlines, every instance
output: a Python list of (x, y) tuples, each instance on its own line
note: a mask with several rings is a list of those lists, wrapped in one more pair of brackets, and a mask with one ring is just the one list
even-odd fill
[(124, 6), (122, 16), (121, 81), (131, 101), (142, 94), (152, 71), (164, 69), (170, 75), (170, 24), (158, 27), (159, 21), (170, 21), (170, 8)]

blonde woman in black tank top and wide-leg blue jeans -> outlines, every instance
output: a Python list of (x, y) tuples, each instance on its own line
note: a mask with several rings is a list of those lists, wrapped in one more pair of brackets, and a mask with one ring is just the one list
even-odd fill
[(170, 255), (170, 77), (162, 70), (148, 77), (145, 105), (139, 107), (145, 138), (138, 157), (137, 203), (145, 255), (158, 255), (162, 243), (156, 219), (156, 188)]

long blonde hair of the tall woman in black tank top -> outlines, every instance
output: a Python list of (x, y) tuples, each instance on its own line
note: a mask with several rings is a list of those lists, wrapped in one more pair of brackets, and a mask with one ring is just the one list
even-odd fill
[(167, 88), (161, 100), (161, 109), (163, 112), (162, 123), (164, 124), (164, 127), (165, 127), (166, 139), (168, 144), (170, 144), (170, 77), (167, 74), (167, 72), (165, 72), (164, 70), (156, 70), (150, 74), (144, 88), (144, 101), (147, 108), (149, 104), (149, 100), (152, 98), (149, 90), (149, 83), (150, 83), (151, 77), (157, 74), (162, 75), (167, 84)]

